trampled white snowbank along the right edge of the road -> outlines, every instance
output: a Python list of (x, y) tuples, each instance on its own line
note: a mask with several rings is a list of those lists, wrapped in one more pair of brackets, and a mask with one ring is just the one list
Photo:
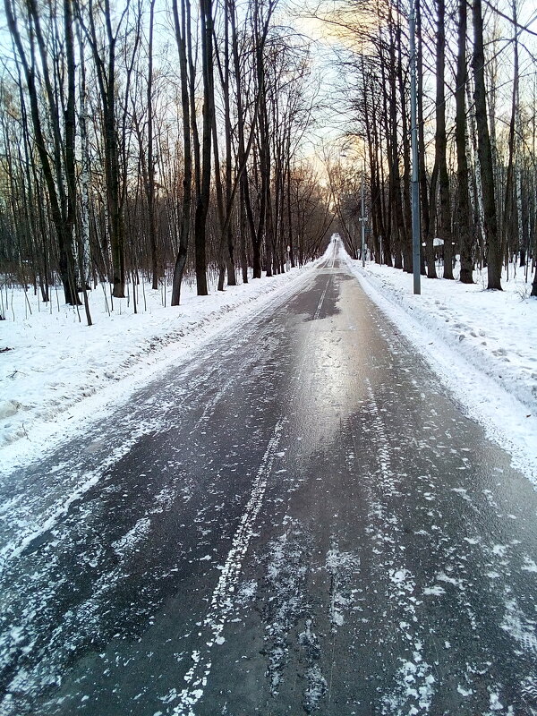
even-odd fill
[(413, 277), (371, 261), (362, 268), (344, 249), (344, 260), (362, 288), (408, 337), (465, 411), (506, 448), (513, 463), (537, 486), (537, 299), (528, 298), (524, 274), (504, 290)]

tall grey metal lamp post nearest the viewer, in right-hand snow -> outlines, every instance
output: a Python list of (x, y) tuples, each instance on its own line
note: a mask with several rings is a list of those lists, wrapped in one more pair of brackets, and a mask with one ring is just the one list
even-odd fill
[(414, 19), (414, 0), (410, 0), (410, 115), (412, 130), (412, 258), (413, 292), (421, 294), (420, 276), (420, 184), (418, 175), (418, 122), (416, 93), (416, 27)]

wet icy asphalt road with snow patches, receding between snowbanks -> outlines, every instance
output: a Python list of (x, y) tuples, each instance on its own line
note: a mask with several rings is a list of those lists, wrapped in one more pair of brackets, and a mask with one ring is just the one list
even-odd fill
[(0, 484), (2, 716), (537, 713), (537, 497), (336, 254)]

